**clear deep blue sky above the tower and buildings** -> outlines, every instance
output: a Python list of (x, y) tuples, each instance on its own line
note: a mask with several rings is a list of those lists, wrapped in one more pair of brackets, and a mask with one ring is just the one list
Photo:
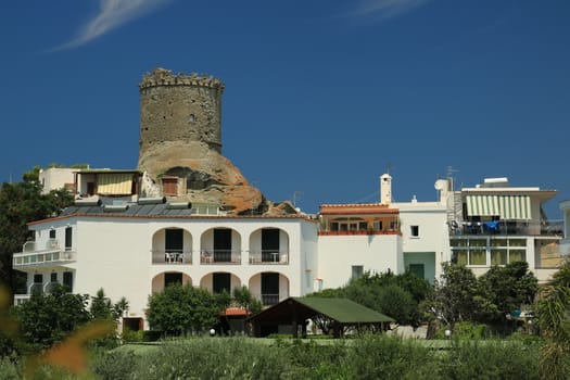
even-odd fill
[(135, 168), (155, 67), (226, 85), (223, 154), (271, 201), (435, 200), (508, 177), (570, 199), (567, 0), (29, 0), (0, 4), (0, 181)]

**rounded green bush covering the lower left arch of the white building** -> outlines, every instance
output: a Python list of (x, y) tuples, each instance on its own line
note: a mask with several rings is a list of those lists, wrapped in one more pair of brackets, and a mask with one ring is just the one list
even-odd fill
[(212, 294), (190, 284), (173, 284), (149, 296), (147, 318), (152, 329), (180, 335), (202, 332), (217, 324), (229, 304), (227, 294)]

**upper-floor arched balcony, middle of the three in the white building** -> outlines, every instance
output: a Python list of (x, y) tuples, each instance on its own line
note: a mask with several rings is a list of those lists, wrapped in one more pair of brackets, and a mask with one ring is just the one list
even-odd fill
[(200, 238), (200, 263), (240, 265), (241, 236), (231, 228), (212, 228)]

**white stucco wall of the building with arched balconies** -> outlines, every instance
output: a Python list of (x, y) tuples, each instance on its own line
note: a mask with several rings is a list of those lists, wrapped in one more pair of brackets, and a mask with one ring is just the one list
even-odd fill
[[(103, 288), (112, 302), (124, 296), (129, 302), (131, 317), (144, 317), (148, 296), (153, 289), (162, 289), (165, 273), (180, 273), (185, 283), (195, 287), (208, 283), (208, 289), (213, 273), (229, 273), (232, 287), (253, 284), (257, 288), (250, 289), (254, 294), (261, 293), (259, 275), (276, 273), (280, 276), (280, 299), (313, 291), (313, 281), (307, 280), (307, 273), (316, 270), (317, 224), (306, 219), (69, 217), (35, 225), (33, 228), (41, 231), (37, 232), (36, 245), (45, 244), (49, 238), (49, 229), (54, 227), (56, 239), (63, 246), (65, 228), (68, 226), (73, 228), (72, 251), (76, 257), (74, 263), (66, 265), (66, 270), (74, 271), (73, 292), (94, 295)], [(152, 250), (156, 246), (164, 248), (165, 228), (185, 230), (185, 251), (191, 255), (191, 262), (153, 263)], [(214, 228), (232, 230), (232, 250), (241, 252), (241, 264), (200, 264), (201, 250), (213, 248), (208, 239), (213, 239)], [(281, 249), (289, 253), (287, 264), (250, 264), (250, 243), (257, 250), (261, 248), (258, 231), (262, 228), (280, 229)], [(155, 259), (156, 257), (155, 255)], [(38, 270), (41, 273), (42, 268)], [(46, 281), (52, 269), (43, 270)], [(30, 271), (29, 284), (33, 278), (34, 271)]]

